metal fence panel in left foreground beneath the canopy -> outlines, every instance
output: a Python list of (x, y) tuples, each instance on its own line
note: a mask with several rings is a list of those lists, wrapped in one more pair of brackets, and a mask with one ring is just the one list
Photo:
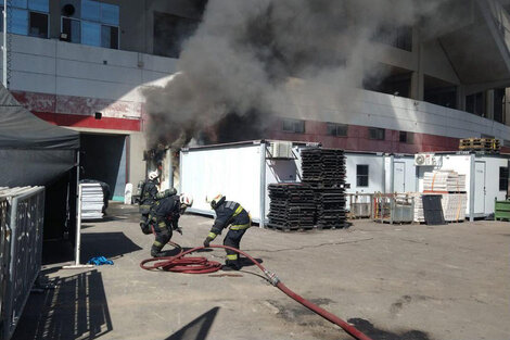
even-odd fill
[(41, 267), (44, 188), (0, 190), (0, 340), (8, 340)]

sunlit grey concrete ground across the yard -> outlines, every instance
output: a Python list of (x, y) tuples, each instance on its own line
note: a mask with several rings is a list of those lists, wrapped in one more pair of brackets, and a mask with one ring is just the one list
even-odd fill
[[(115, 264), (62, 269), (69, 247), (47, 242), (42, 273), (55, 289), (30, 294), (13, 339), (350, 339), (267, 284), (256, 266), (228, 276), (141, 269), (153, 237), (141, 234), (135, 206), (114, 204), (109, 213), (84, 224), (81, 259)], [(184, 215), (183, 236), (173, 240), (200, 245), (212, 222)], [(241, 248), (374, 340), (510, 339), (510, 223), (254, 227)], [(219, 250), (205, 254), (224, 259)]]

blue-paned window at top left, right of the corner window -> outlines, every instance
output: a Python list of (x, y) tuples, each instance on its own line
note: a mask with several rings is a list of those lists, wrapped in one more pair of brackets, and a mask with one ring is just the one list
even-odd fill
[(118, 49), (119, 7), (81, 0), (80, 17), (62, 16), (62, 39), (75, 43)]

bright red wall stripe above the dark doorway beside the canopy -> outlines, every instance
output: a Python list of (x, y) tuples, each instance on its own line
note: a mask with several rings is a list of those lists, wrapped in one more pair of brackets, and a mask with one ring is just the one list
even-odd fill
[(33, 112), (36, 116), (48, 123), (59, 126), (102, 128), (113, 130), (140, 131), (139, 119), (102, 117), (95, 119), (93, 116), (79, 114), (65, 114), (52, 112)]

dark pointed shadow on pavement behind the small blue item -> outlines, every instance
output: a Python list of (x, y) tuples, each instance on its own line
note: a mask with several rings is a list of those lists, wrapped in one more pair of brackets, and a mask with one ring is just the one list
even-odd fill
[(107, 259), (122, 256), (142, 248), (138, 247), (124, 232), (89, 232), (81, 234), (81, 259), (87, 262), (90, 257), (105, 256)]

